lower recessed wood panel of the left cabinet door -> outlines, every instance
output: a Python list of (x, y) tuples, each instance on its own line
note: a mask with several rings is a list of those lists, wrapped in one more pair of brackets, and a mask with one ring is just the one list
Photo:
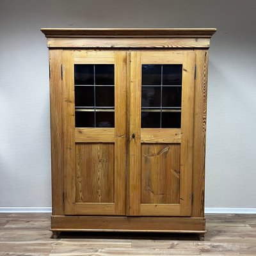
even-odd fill
[(113, 143), (76, 144), (76, 202), (114, 202)]

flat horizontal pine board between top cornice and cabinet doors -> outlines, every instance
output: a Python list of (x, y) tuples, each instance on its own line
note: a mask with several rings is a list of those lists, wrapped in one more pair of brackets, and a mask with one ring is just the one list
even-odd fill
[(209, 38), (48, 38), (49, 48), (208, 48)]

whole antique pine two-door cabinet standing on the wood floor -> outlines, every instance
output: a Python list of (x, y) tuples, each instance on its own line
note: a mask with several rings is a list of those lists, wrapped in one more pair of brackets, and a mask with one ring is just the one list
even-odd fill
[(61, 231), (203, 238), (207, 29), (43, 28)]

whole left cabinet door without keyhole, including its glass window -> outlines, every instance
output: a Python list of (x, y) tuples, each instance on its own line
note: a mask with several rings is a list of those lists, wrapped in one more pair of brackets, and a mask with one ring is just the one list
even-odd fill
[(126, 52), (63, 51), (65, 214), (124, 215)]

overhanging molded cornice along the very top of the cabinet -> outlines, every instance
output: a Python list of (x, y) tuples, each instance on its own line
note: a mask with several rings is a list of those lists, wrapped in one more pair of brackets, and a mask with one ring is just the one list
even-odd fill
[(216, 28), (41, 28), (47, 38), (53, 37), (171, 37), (211, 38)]

